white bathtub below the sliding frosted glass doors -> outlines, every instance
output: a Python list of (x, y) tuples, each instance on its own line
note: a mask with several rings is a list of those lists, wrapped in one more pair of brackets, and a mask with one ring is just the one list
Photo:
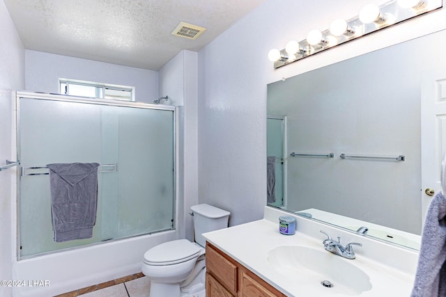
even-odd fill
[(146, 250), (174, 239), (172, 230), (15, 261), (13, 296), (54, 296), (138, 273)]

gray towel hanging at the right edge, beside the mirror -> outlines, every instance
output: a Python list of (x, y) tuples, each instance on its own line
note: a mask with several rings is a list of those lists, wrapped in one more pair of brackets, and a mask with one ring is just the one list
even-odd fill
[(426, 214), (411, 297), (446, 296), (446, 198), (439, 192)]

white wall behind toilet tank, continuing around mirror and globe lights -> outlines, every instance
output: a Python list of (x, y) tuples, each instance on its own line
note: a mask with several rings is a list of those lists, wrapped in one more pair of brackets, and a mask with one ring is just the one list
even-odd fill
[(199, 201), (231, 211), (231, 225), (261, 218), (266, 204), (268, 83), (446, 28), (443, 8), (273, 69), (270, 49), (369, 2), (268, 0), (199, 52)]

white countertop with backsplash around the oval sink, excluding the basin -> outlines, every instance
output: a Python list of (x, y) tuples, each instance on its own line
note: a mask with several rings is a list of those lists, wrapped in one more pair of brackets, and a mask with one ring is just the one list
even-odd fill
[[(278, 271), (268, 262), (268, 251), (278, 246), (305, 246), (325, 251), (322, 244), (325, 235), (315, 230), (323, 229), (334, 238), (344, 236), (346, 239), (344, 243), (351, 242), (355, 234), (344, 234), (336, 228), (297, 216), (295, 234), (283, 235), (279, 233), (278, 217), (279, 215), (289, 216), (289, 213), (282, 213), (277, 209), (271, 210), (269, 207), (266, 208), (266, 211), (269, 213), (262, 220), (208, 232), (203, 236), (286, 296), (341, 296), (336, 294), (335, 287), (330, 289), (323, 287), (320, 284), (321, 280), (315, 280), (318, 285), (309, 285), (307, 278), (305, 282), (300, 282), (299, 275), (295, 275), (297, 273), (291, 275)], [(309, 224), (316, 225), (309, 227)], [(306, 232), (316, 234), (309, 236), (305, 234)], [(338, 255), (330, 255), (357, 266), (369, 276), (371, 290), (363, 291), (362, 294), (356, 296), (410, 296), (415, 278), (417, 252), (374, 242), (363, 236), (353, 239), (363, 245), (361, 248), (355, 248), (356, 259), (344, 259)], [(370, 249), (373, 251), (367, 251)], [(375, 255), (378, 259), (374, 259)], [(395, 260), (395, 258), (398, 259)], [(399, 262), (406, 263), (401, 263), (399, 266)], [(339, 273), (343, 273), (343, 271), (339, 271)]]

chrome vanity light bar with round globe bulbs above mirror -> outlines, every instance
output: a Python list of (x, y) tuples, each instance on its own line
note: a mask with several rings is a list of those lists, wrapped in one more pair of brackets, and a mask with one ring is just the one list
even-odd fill
[(367, 4), (356, 17), (347, 20), (335, 19), (330, 29), (325, 31), (309, 31), (307, 39), (291, 40), (282, 50), (272, 49), (268, 58), (274, 62), (275, 68), (282, 67), (442, 7), (443, 0), (392, 0), (380, 6)]

